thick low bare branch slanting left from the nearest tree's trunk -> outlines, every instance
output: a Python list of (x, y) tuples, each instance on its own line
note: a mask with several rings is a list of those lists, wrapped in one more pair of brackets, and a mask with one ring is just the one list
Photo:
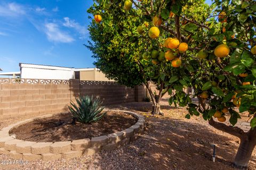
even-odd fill
[(243, 135), (245, 134), (245, 132), (244, 132), (242, 129), (240, 129), (240, 128), (238, 128), (238, 127), (228, 126), (228, 125), (226, 125), (226, 124), (224, 124), (224, 123), (215, 122), (215, 121), (213, 120), (213, 118), (211, 118), (211, 119), (209, 120), (209, 124), (210, 124), (211, 126), (213, 126), (215, 129), (218, 129), (218, 130), (220, 130), (220, 131), (229, 133), (229, 134), (234, 135), (235, 137), (238, 137), (238, 138), (240, 138), (240, 139), (241, 139), (241, 138), (243, 137)]

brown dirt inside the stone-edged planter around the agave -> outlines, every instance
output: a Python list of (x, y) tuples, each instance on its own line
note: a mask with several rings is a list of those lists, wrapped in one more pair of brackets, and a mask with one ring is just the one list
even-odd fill
[(137, 118), (124, 112), (107, 112), (98, 122), (71, 124), (72, 116), (55, 115), (29, 122), (13, 129), (17, 139), (33, 142), (58, 142), (99, 137), (122, 131), (137, 122)]

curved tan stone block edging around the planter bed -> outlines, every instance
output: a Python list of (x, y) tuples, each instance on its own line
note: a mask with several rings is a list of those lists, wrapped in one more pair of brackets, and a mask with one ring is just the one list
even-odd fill
[(30, 142), (15, 139), (10, 136), (9, 131), (18, 126), (38, 120), (39, 118), (51, 117), (53, 114), (31, 118), (21, 121), (0, 131), (0, 152), (10, 155), (14, 159), (23, 160), (39, 160), (44, 161), (57, 160), (60, 158), (74, 158), (84, 154), (92, 155), (99, 152), (101, 149), (112, 150), (122, 145), (127, 145), (131, 140), (138, 138), (138, 134), (143, 133), (145, 128), (145, 117), (129, 111), (124, 112), (138, 118), (137, 123), (121, 132), (116, 132), (91, 139), (80, 139), (64, 142)]

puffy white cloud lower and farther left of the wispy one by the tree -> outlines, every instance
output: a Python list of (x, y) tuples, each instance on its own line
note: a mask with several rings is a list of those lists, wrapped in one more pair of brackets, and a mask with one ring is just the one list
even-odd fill
[(60, 30), (59, 25), (56, 23), (46, 23), (45, 33), (49, 41), (57, 43), (71, 43), (75, 40), (68, 33)]

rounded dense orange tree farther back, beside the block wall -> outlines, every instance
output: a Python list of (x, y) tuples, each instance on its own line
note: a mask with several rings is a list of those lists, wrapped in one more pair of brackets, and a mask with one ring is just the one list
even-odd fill
[[(205, 5), (202, 0), (191, 2), (200, 8), (195, 10), (186, 6), (184, 11), (190, 11), (190, 15), (194, 14), (198, 21), (203, 22), (204, 19), (199, 13), (209, 15), (209, 5)], [(134, 4), (137, 7), (134, 7)], [(174, 38), (175, 20), (169, 10), (158, 11), (164, 4), (166, 6), (166, 3), (155, 5), (151, 11), (147, 9), (150, 6), (149, 2), (144, 1), (95, 1), (88, 10), (94, 15), (89, 27), (93, 43), (89, 42), (86, 46), (92, 50), (93, 57), (96, 58), (95, 66), (108, 78), (126, 86), (145, 84), (153, 102), (153, 114), (163, 114), (159, 101), (166, 93), (172, 95), (172, 89), (179, 91), (180, 98), (185, 95), (183, 86), (188, 86), (188, 70), (193, 69), (192, 66), (189, 66), (189, 69), (182, 67), (181, 80), (174, 76), (173, 66), (181, 65), (180, 57), (186, 52), (188, 45), (177, 39), (171, 42), (169, 47), (170, 38), (166, 38)], [(170, 7), (170, 2), (167, 5)], [(161, 19), (162, 16), (164, 20)], [(182, 22), (185, 21), (182, 19)], [(162, 27), (164, 22), (170, 27)], [(181, 27), (185, 28), (186, 25), (183, 23)], [(184, 35), (189, 36), (188, 32), (184, 32)], [(189, 37), (186, 38), (184, 35), (181, 39), (187, 40)], [(170, 48), (175, 48), (175, 52)], [(149, 81), (156, 84), (158, 94), (151, 90)], [(179, 105), (186, 106), (188, 101), (190, 98), (187, 96), (185, 101), (180, 100)]]

